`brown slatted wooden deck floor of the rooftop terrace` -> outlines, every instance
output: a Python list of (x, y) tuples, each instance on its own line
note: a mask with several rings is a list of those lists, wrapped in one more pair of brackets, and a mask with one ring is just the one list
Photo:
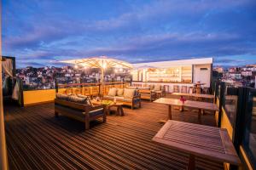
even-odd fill
[[(154, 144), (151, 139), (167, 118), (166, 105), (143, 102), (125, 108), (125, 116), (108, 116), (107, 123), (55, 118), (54, 105), (5, 107), (10, 169), (186, 169), (189, 156)], [(174, 111), (174, 120), (197, 122), (197, 113)], [(215, 126), (212, 115), (202, 123)], [(198, 169), (223, 169), (221, 162), (196, 158)]]

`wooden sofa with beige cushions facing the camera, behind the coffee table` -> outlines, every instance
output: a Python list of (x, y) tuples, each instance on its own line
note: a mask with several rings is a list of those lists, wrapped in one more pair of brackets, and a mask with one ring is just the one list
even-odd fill
[(103, 99), (116, 99), (124, 105), (130, 105), (131, 109), (141, 107), (141, 95), (138, 94), (137, 89), (110, 88), (108, 95), (104, 96)]

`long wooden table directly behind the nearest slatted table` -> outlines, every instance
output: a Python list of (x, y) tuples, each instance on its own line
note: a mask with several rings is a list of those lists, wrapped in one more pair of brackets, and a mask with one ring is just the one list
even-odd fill
[(218, 111), (218, 105), (208, 102), (201, 101), (191, 101), (186, 100), (182, 102), (180, 99), (169, 99), (169, 98), (160, 98), (154, 100), (154, 103), (160, 103), (164, 105), (168, 105), (168, 117), (172, 120), (172, 106), (181, 106), (181, 107), (189, 107), (192, 109), (198, 109), (198, 121), (201, 123), (201, 112), (202, 111)]

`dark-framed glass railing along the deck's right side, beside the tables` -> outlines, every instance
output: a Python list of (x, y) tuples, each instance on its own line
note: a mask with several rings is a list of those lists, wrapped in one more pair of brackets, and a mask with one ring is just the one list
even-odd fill
[[(256, 111), (256, 89), (233, 88), (225, 82), (215, 82), (212, 87), (220, 109), (216, 116), (218, 127), (227, 128), (247, 169), (256, 168), (255, 153), (252, 146), (249, 147), (249, 144), (256, 144), (253, 139), (253, 136), (256, 136), (256, 123), (253, 120), (253, 111)], [(236, 169), (230, 167), (233, 168)]]

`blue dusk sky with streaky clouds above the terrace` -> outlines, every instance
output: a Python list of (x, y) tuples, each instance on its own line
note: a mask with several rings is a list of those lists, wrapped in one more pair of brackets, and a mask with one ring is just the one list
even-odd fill
[(256, 64), (255, 0), (3, 0), (3, 55), (18, 67), (107, 55)]

